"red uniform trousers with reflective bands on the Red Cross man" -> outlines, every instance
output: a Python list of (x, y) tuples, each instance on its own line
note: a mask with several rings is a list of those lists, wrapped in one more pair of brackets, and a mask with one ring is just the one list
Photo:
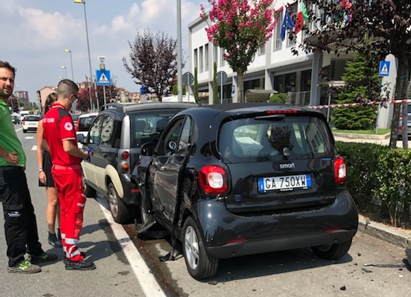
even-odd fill
[(86, 204), (82, 185), (82, 170), (79, 165), (53, 165), (51, 169), (55, 188), (60, 200), (60, 231), (63, 250), (71, 261), (82, 261), (77, 247), (83, 227), (83, 212)]

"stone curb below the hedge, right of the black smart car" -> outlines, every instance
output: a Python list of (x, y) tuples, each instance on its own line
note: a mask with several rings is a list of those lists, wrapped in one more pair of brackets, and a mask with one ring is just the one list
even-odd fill
[(377, 237), (380, 240), (384, 240), (401, 248), (411, 247), (411, 234), (396, 230), (393, 227), (387, 227), (379, 222), (365, 220), (361, 218), (361, 216), (358, 218), (358, 231)]

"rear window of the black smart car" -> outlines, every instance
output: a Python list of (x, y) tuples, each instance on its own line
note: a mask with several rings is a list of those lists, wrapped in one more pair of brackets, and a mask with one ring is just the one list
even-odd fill
[(310, 116), (230, 120), (222, 125), (217, 145), (232, 163), (331, 157), (325, 125)]

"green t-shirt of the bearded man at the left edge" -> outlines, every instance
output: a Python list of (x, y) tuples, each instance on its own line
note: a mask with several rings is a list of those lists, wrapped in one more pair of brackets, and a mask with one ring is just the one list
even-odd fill
[[(10, 116), (10, 110), (7, 103), (0, 99), (0, 146), (8, 153), (17, 152), (18, 164), (16, 166), (25, 167), (26, 157), (21, 146), (20, 140), (18, 140), (16, 130)], [(8, 163), (4, 158), (0, 157), (0, 166), (14, 166), (12, 163)]]

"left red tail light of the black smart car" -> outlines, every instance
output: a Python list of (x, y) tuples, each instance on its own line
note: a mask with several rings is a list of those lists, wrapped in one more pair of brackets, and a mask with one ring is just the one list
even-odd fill
[(224, 194), (228, 190), (227, 172), (220, 166), (204, 166), (199, 171), (199, 184), (207, 194)]

